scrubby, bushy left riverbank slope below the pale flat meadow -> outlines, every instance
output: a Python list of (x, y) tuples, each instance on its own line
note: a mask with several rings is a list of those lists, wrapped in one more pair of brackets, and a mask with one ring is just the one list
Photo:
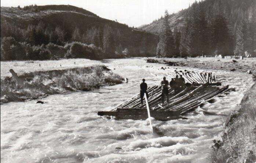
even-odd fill
[(122, 83), (123, 78), (105, 66), (23, 73), (1, 78), (1, 103), (39, 99), (48, 95)]

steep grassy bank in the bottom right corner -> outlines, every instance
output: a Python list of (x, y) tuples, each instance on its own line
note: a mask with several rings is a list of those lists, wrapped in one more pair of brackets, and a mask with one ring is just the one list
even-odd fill
[[(254, 81), (256, 75), (253, 76)], [(214, 140), (212, 163), (256, 162), (256, 84), (248, 89), (238, 109), (228, 117), (222, 140)]]

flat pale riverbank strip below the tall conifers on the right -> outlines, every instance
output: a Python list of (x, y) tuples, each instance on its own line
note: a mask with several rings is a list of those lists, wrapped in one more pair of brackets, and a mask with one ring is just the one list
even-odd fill
[(181, 63), (187, 67), (226, 70), (226, 71), (240, 71), (246, 72), (248, 70), (256, 71), (256, 58), (244, 58), (242, 60), (236, 59), (219, 59), (219, 58), (149, 58), (151, 63)]

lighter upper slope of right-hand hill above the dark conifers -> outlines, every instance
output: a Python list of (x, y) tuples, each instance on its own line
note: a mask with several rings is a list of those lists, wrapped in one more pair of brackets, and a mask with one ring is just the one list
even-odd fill
[[(230, 27), (235, 25), (241, 17), (247, 21), (255, 19), (256, 1), (255, 0), (204, 0), (193, 3), (189, 8), (169, 15), (169, 24), (172, 30), (175, 27), (183, 27), (186, 18), (191, 16), (196, 10), (205, 12), (208, 21), (211, 21), (216, 15), (222, 14), (228, 19)], [(164, 12), (164, 11), (163, 11)], [(138, 27), (150, 33), (160, 34), (163, 30), (164, 18), (154, 20), (148, 25)]]

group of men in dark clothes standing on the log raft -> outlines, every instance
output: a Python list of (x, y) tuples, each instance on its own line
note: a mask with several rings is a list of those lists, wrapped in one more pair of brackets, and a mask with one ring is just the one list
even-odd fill
[[(162, 89), (162, 104), (164, 104), (165, 97), (167, 103), (169, 103), (169, 85), (171, 88), (173, 88), (175, 95), (181, 92), (184, 88), (186, 88), (185, 85), (185, 79), (180, 75), (176, 75), (175, 78), (172, 78), (170, 82), (166, 80), (166, 77), (163, 77), (163, 80), (161, 81), (161, 89)], [(142, 79), (142, 83), (140, 84), (140, 102), (143, 104), (143, 97), (146, 93), (147, 99), (149, 98), (149, 95), (147, 93), (147, 84), (145, 83), (145, 79)]]

